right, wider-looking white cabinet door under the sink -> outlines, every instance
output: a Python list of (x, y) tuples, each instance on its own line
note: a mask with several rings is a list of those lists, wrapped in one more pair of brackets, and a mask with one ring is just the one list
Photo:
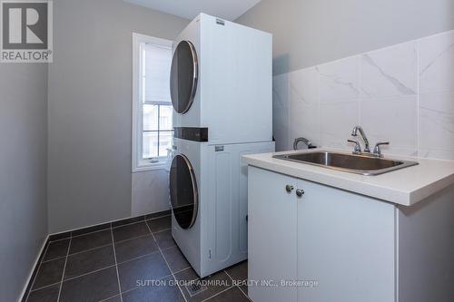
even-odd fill
[(394, 206), (299, 180), (300, 302), (394, 301)]

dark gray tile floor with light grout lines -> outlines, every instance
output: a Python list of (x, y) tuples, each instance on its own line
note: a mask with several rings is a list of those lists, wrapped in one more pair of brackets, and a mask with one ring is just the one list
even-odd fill
[[(246, 261), (201, 282), (170, 228), (165, 216), (108, 223), (51, 241), (27, 301), (249, 301), (240, 284), (247, 279)], [(201, 287), (194, 292), (184, 281)]]

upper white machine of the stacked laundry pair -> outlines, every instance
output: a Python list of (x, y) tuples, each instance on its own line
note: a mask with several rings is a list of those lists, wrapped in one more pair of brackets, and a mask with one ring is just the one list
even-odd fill
[(175, 132), (201, 141), (272, 141), (272, 36), (198, 15), (173, 44)]

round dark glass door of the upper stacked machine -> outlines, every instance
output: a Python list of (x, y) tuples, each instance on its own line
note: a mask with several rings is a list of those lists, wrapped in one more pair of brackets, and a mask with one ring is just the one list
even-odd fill
[(195, 47), (189, 41), (180, 42), (173, 53), (171, 69), (171, 98), (173, 109), (187, 112), (197, 90), (199, 64)]

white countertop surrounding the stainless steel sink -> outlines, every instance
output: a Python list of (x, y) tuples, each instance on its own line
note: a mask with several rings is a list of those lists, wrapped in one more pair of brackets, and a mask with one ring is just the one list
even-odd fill
[(390, 171), (376, 176), (363, 176), (340, 170), (331, 170), (294, 161), (272, 158), (277, 154), (298, 153), (305, 151), (339, 151), (331, 148), (319, 148), (300, 151), (283, 151), (242, 156), (248, 165), (272, 170), (303, 180), (311, 180), (342, 190), (349, 190), (380, 200), (411, 206), (420, 200), (454, 184), (454, 161), (438, 161), (420, 158), (387, 156), (387, 159), (418, 161), (419, 165)]

